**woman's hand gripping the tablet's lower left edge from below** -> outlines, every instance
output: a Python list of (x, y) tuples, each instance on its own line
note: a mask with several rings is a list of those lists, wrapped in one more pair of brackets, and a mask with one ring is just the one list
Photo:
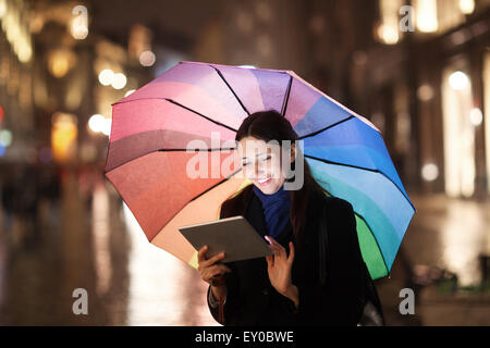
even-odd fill
[(222, 263), (218, 263), (220, 260), (224, 258), (224, 252), (217, 253), (212, 258), (206, 259), (206, 251), (208, 250), (207, 246), (204, 246), (199, 249), (197, 253), (197, 270), (200, 273), (200, 277), (206, 283), (209, 283), (213, 288), (213, 295), (217, 291), (215, 288), (224, 288), (223, 276), (225, 273), (231, 272), (231, 270)]

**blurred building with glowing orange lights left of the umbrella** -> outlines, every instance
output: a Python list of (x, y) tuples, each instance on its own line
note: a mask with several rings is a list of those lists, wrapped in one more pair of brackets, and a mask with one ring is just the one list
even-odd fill
[(156, 59), (148, 28), (112, 39), (90, 32), (91, 15), (89, 3), (0, 0), (2, 163), (105, 161), (111, 104), (154, 76)]

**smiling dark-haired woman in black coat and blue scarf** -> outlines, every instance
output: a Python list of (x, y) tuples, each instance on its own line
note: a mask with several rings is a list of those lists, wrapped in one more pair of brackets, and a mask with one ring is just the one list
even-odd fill
[[(367, 300), (382, 318), (352, 206), (328, 197), (303, 157), (303, 185), (284, 189), (298, 179), (297, 173), (290, 178), (282, 170), (286, 161), (294, 173), (299, 151), (290, 122), (275, 111), (254, 113), (243, 121), (235, 140), (243, 173), (253, 185), (222, 203), (220, 219), (245, 216), (273, 254), (222, 263), (223, 253), (207, 259), (207, 247), (199, 250), (198, 270), (210, 284), (213, 318), (223, 325), (356, 325)], [(270, 140), (279, 141), (278, 147), (291, 140), (282, 152), (287, 156), (271, 151)]]

